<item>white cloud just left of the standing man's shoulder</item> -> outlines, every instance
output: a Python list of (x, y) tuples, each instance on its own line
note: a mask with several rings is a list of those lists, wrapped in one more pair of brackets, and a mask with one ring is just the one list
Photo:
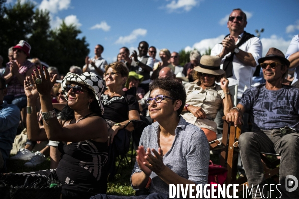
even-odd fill
[(203, 54), (205, 52), (205, 50), (209, 49), (209, 47), (213, 48), (217, 43), (221, 43), (221, 41), (224, 37), (225, 37), (225, 35), (220, 35), (216, 38), (203, 39), (200, 42), (193, 44), (192, 47), (190, 47), (190, 46), (185, 47), (185, 51), (191, 51), (195, 48), (201, 54)]

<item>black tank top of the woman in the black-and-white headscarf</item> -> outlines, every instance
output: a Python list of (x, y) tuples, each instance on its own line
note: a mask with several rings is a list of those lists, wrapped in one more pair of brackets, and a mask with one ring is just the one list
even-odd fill
[(63, 189), (80, 192), (78, 194), (85, 197), (106, 193), (107, 142), (60, 142), (58, 149), (62, 154), (56, 173), (59, 180), (65, 183)]

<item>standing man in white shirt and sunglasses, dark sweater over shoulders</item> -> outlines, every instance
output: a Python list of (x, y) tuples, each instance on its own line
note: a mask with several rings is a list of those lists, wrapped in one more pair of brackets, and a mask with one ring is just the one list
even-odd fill
[[(230, 85), (238, 84), (239, 100), (242, 97), (245, 86), (251, 86), (252, 76), (258, 65), (258, 59), (262, 56), (260, 39), (246, 33), (244, 31), (246, 25), (246, 14), (241, 9), (234, 9), (227, 22), (230, 34), (222, 40), (221, 44), (216, 44), (211, 51), (211, 55), (220, 57), (221, 69), (225, 70)], [(239, 46), (238, 43), (247, 35), (249, 35), (249, 39)], [(232, 58), (232, 55), (232, 71), (230, 71), (230, 67), (224, 67), (226, 66), (224, 63), (226, 58)]]

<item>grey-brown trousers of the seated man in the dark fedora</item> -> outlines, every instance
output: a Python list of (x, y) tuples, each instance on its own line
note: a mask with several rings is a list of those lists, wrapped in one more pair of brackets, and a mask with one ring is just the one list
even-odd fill
[(299, 186), (293, 192), (286, 191), (287, 175), (299, 180), (299, 133), (290, 133), (280, 137), (279, 129), (242, 133), (239, 137), (239, 151), (248, 179), (249, 187), (265, 184), (260, 152), (276, 153), (281, 156), (279, 184), (281, 199), (299, 199)]

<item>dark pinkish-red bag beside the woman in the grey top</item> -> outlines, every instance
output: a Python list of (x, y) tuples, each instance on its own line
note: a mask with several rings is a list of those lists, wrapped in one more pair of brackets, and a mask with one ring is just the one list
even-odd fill
[(214, 165), (213, 162), (210, 160), (208, 183), (210, 185), (212, 184), (223, 185), (223, 183), (226, 180), (226, 176), (227, 176), (227, 169), (220, 165)]

